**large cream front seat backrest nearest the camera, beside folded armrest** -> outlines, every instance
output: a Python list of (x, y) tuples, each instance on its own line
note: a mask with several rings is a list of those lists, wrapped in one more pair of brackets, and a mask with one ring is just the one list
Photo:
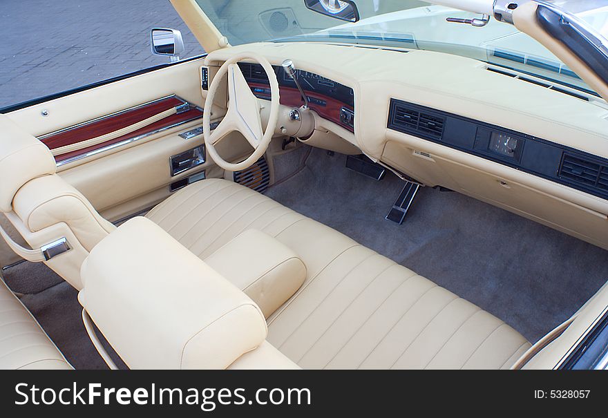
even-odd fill
[(93, 248), (79, 301), (130, 368), (227, 368), (265, 341), (257, 305), (146, 218)]

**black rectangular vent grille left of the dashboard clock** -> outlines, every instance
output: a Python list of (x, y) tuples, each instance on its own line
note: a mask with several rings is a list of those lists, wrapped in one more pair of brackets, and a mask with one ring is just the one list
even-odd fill
[(446, 118), (419, 111), (413, 106), (391, 99), (388, 127), (404, 133), (440, 140)]

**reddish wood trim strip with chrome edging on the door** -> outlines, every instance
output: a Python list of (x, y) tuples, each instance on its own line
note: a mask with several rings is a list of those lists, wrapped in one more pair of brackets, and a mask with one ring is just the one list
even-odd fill
[[(68, 126), (67, 128), (59, 131), (41, 135), (38, 137), (38, 139), (46, 144), (49, 149), (53, 150), (61, 146), (78, 144), (79, 142), (90, 140), (91, 138), (98, 137), (100, 135), (115, 132), (137, 122), (141, 122), (148, 117), (157, 115), (163, 111), (167, 111), (170, 108), (182, 106), (184, 104), (187, 104), (187, 102), (175, 95), (162, 97), (160, 99), (153, 100), (152, 102), (140, 104), (138, 106), (124, 109), (123, 111), (98, 117), (94, 120), (89, 120), (82, 122), (81, 124)], [(182, 111), (181, 113), (165, 117), (158, 122), (144, 126), (144, 128), (137, 129), (137, 131), (133, 131), (129, 134), (116, 137), (113, 140), (108, 140), (94, 146), (88, 146), (77, 151), (57, 155), (55, 156), (55, 161), (57, 161), (58, 165), (66, 164), (67, 162), (72, 162), (78, 158), (81, 158), (82, 156), (91, 155), (91, 153), (97, 153), (103, 149), (108, 149), (110, 146), (118, 146), (118, 144), (121, 144), (122, 142), (133, 142), (135, 139), (140, 139), (142, 137), (152, 135), (153, 133), (158, 133), (160, 131), (164, 131), (166, 129), (170, 129), (200, 118), (202, 118), (202, 109), (198, 108), (198, 106), (190, 104), (189, 110), (187, 111)]]

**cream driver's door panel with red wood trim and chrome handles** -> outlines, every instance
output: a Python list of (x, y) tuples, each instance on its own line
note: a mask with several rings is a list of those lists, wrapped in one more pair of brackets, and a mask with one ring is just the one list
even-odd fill
[[(201, 65), (202, 58), (185, 61), (7, 116), (55, 149), (114, 132), (188, 102), (188, 111), (94, 147), (57, 155), (59, 175), (81, 191), (102, 216), (118, 220), (164, 200), (171, 193), (169, 185), (180, 179), (203, 170), (207, 177), (224, 175), (209, 159), (175, 176), (169, 167), (172, 155), (204, 142), (202, 135), (189, 139), (179, 136), (202, 122)], [(213, 108), (214, 120), (222, 115), (222, 109)], [(225, 158), (240, 158), (248, 151), (246, 145), (234, 146), (236, 141), (225, 143), (230, 144), (229, 149), (220, 151)]]

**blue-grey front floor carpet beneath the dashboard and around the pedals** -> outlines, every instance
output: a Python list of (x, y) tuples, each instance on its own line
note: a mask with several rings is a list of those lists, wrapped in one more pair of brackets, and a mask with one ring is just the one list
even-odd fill
[(537, 341), (608, 280), (608, 252), (459, 193), (421, 188), (403, 225), (384, 217), (401, 191), (315, 149), (267, 196), (446, 287)]

